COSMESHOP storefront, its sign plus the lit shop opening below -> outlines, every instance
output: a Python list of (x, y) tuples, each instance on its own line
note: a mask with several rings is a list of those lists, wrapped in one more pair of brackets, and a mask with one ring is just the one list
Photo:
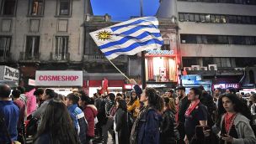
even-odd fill
[(35, 86), (51, 88), (56, 93), (67, 95), (83, 87), (83, 71), (37, 70)]

